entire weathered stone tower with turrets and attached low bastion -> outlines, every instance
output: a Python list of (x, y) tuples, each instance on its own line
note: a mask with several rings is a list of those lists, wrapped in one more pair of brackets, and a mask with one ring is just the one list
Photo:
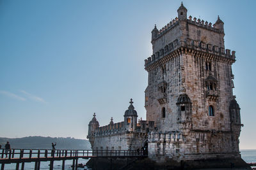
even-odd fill
[(147, 120), (137, 120), (131, 99), (124, 122), (99, 126), (93, 115), (88, 136), (93, 150), (147, 147), (156, 162), (241, 158), (240, 108), (233, 95), (235, 52), (225, 49), (224, 23), (187, 16), (152, 30), (151, 57), (145, 59)]

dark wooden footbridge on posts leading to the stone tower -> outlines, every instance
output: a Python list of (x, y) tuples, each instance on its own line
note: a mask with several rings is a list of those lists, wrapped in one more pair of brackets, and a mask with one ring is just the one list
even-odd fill
[(24, 170), (25, 162), (35, 162), (35, 170), (40, 169), (40, 162), (50, 161), (49, 169), (53, 169), (54, 160), (62, 160), (62, 169), (65, 169), (65, 160), (73, 160), (72, 170), (77, 170), (78, 159), (93, 157), (128, 158), (147, 157), (144, 153), (135, 150), (47, 150), (47, 149), (12, 149), (7, 155), (4, 149), (0, 150), (1, 170), (4, 164), (16, 164), (16, 170)]

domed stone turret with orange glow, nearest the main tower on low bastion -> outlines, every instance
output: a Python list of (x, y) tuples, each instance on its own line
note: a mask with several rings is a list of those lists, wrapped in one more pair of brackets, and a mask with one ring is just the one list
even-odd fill
[(128, 110), (125, 111), (124, 113), (124, 124), (125, 124), (125, 129), (127, 131), (132, 132), (136, 130), (137, 127), (137, 111), (134, 110), (134, 106), (132, 105), (132, 99), (130, 101), (130, 106)]

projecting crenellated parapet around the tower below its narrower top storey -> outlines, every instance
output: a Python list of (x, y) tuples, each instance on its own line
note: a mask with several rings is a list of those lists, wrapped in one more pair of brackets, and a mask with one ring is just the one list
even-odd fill
[(200, 52), (211, 53), (213, 55), (225, 57), (227, 59), (232, 59), (232, 60), (236, 59), (235, 51), (232, 51), (230, 53), (229, 49), (225, 49), (223, 47), (206, 44), (204, 43), (204, 41), (197, 41), (195, 39), (187, 38), (185, 42), (175, 39), (175, 41), (173, 41), (172, 43), (169, 43), (168, 45), (164, 46), (164, 48), (162, 48), (161, 50), (151, 55), (151, 57), (148, 57), (147, 59), (145, 59), (145, 67), (150, 66), (151, 64), (153, 64), (157, 60), (162, 59), (163, 57), (171, 55), (172, 52), (174, 52), (180, 47), (185, 47), (185, 48), (197, 50)]

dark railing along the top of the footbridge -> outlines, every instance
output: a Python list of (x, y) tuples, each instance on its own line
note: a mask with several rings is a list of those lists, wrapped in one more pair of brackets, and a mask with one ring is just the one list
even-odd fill
[(140, 157), (145, 153), (135, 150), (48, 150), (0, 149), (0, 159), (49, 158), (49, 157)]

